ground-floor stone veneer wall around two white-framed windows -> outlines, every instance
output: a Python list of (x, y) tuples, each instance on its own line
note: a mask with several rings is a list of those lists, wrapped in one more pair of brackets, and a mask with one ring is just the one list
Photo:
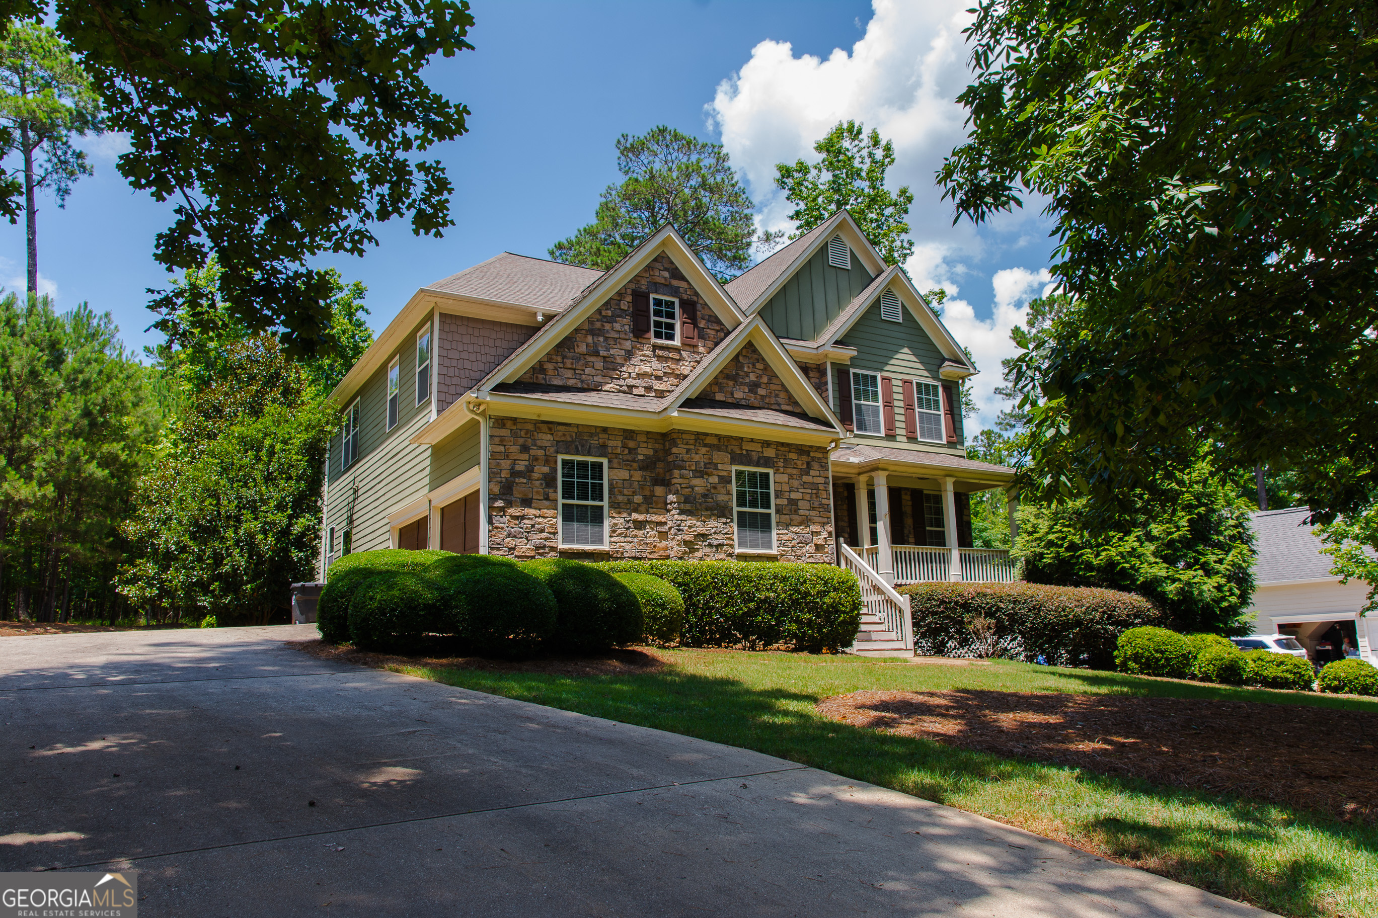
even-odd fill
[(488, 551), (559, 555), (558, 456), (608, 460), (609, 549), (570, 557), (732, 559), (732, 467), (774, 471), (783, 562), (834, 560), (828, 451), (690, 431), (655, 434), (495, 417), (489, 428)]

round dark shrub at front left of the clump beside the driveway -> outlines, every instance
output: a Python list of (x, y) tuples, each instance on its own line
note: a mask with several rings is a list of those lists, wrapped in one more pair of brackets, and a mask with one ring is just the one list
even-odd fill
[(441, 590), (416, 571), (379, 571), (358, 584), (349, 604), (354, 647), (387, 654), (416, 651), (427, 634), (448, 630)]

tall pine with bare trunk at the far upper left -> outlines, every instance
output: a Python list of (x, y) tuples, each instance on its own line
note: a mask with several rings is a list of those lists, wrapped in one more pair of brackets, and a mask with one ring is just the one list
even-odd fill
[[(0, 156), (19, 154), (29, 295), (39, 295), (39, 211), (34, 195), (52, 189), (66, 206), (72, 183), (91, 175), (72, 135), (101, 129), (101, 99), (52, 29), (17, 23), (0, 40)], [(41, 154), (41, 161), (39, 154)], [(12, 180), (12, 179), (11, 179)], [(4, 191), (14, 194), (14, 184)]]

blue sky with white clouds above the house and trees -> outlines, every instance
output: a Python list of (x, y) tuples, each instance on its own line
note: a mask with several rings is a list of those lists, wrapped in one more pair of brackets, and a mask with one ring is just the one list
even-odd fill
[[(962, 29), (969, 0), (657, 0), (537, 3), (474, 0), (474, 51), (437, 58), (426, 78), (473, 114), (469, 134), (437, 145), (455, 183), (455, 226), (416, 237), (407, 220), (376, 226), (362, 257), (321, 256), (368, 286), (380, 330), (416, 288), (499, 252), (546, 257), (593, 219), (599, 191), (620, 179), (613, 142), (668, 124), (722, 143), (766, 228), (791, 228), (774, 164), (816, 158), (813, 143), (845, 118), (893, 140), (890, 183), (915, 195), (921, 290), (948, 292), (944, 322), (981, 373), (977, 425), (995, 423), (1009, 329), (1049, 288), (1049, 223), (1016, 211), (992, 224), (952, 223), (933, 173), (960, 143), (967, 84)], [(95, 175), (65, 208), (39, 201), (40, 290), (59, 310), (109, 310), (134, 350), (160, 340), (147, 289), (172, 281), (153, 257), (171, 204), (135, 193), (114, 169), (119, 136), (87, 138)], [(0, 285), (23, 289), (22, 224), (0, 223)]]

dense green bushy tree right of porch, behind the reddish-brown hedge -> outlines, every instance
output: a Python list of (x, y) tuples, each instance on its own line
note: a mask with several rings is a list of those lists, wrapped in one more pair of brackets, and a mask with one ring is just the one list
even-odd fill
[(1250, 509), (1202, 450), (1115, 506), (1084, 497), (1022, 506), (1016, 553), (1031, 584), (1130, 590), (1180, 630), (1231, 633), (1254, 592)]

